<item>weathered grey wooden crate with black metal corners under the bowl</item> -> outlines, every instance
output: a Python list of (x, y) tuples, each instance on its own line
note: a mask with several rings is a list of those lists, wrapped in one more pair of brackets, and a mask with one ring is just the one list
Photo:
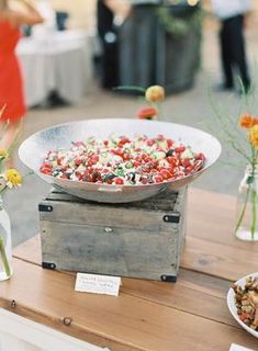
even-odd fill
[(175, 282), (187, 190), (127, 204), (52, 191), (38, 205), (43, 268)]

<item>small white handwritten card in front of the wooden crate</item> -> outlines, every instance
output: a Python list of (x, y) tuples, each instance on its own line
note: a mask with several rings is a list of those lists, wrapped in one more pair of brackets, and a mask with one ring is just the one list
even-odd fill
[(117, 296), (120, 285), (120, 276), (77, 273), (75, 290), (77, 292)]

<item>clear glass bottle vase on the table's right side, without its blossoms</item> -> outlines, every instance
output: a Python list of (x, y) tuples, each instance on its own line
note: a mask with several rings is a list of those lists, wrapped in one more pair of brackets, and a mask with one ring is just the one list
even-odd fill
[(258, 167), (247, 166), (237, 196), (235, 235), (240, 240), (258, 241)]

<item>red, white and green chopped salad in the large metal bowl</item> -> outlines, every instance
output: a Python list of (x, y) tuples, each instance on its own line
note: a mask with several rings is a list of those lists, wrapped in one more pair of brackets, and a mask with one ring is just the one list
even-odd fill
[(112, 136), (72, 141), (70, 148), (49, 150), (41, 172), (56, 178), (101, 184), (133, 185), (177, 180), (201, 170), (202, 152), (164, 135), (149, 138)]

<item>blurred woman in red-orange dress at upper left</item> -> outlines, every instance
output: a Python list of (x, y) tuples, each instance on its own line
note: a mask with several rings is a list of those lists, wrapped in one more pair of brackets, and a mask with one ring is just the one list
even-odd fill
[(0, 122), (10, 125), (0, 141), (9, 148), (26, 112), (23, 84), (15, 46), (21, 36), (20, 26), (43, 22), (43, 18), (27, 1), (21, 0), (26, 11), (12, 10), (8, 0), (0, 0)]

